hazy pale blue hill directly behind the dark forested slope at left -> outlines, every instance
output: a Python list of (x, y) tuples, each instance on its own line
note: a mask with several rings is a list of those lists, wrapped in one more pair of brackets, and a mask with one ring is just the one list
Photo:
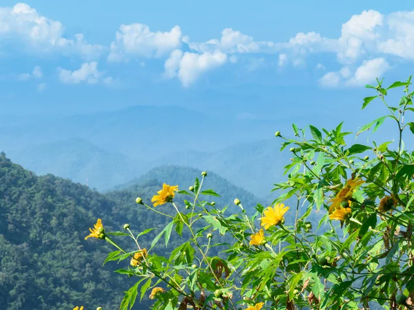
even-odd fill
[(8, 156), (37, 174), (55, 174), (99, 190), (125, 183), (146, 171), (139, 161), (107, 152), (81, 138), (33, 145), (11, 151)]

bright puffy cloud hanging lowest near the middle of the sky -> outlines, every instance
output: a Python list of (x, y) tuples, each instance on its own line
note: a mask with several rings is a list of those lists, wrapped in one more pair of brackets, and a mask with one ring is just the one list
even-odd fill
[(188, 87), (201, 74), (223, 65), (226, 61), (227, 55), (219, 50), (202, 54), (174, 50), (164, 64), (165, 75), (169, 78), (177, 76), (182, 85)]

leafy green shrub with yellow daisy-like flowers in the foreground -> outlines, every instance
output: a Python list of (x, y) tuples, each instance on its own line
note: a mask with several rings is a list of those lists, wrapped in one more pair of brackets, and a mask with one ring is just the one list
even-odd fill
[[(390, 142), (347, 146), (342, 123), (331, 131), (294, 124), (294, 138), (276, 132), (293, 154), (288, 179), (275, 185), (273, 204), (257, 205), (253, 216), (238, 199), (239, 214), (205, 201), (219, 194), (203, 189), (203, 172), (188, 191), (164, 184), (151, 203), (137, 198), (139, 207), (170, 218), (151, 244), (140, 241), (150, 228), (137, 234), (126, 224), (126, 232), (109, 232), (99, 219), (86, 238), (110, 242), (115, 251), (105, 262), (117, 260), (125, 266), (118, 273), (137, 278), (120, 309), (130, 309), (138, 295), (149, 295), (157, 310), (414, 309), (414, 152), (402, 140), (407, 128), (414, 133), (414, 123), (404, 123), (414, 112), (409, 85), (411, 78), (368, 85), (376, 94), (362, 106), (377, 99), (388, 114), (357, 135), (388, 119), (397, 128), (395, 149)], [(396, 87), (404, 95), (390, 105), (387, 92)], [(157, 209), (164, 204), (176, 215)], [(317, 211), (322, 219), (310, 223)], [(154, 253), (162, 237), (167, 246), (172, 234), (184, 233), (189, 238), (168, 255)], [(136, 248), (121, 248), (117, 236), (132, 238)]]

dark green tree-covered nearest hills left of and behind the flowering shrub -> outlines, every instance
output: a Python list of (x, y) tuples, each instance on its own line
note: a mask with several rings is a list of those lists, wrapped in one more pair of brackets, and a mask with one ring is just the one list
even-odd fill
[[(140, 196), (144, 202), (150, 203), (162, 181), (190, 185), (190, 179), (198, 176), (199, 172), (182, 167), (163, 167), (148, 175), (153, 178), (144, 176), (122, 189), (101, 194), (50, 174), (36, 176), (12, 163), (2, 153), (1, 309), (72, 309), (79, 304), (87, 309), (97, 306), (117, 309), (121, 292), (133, 285), (134, 279), (114, 276), (112, 271), (126, 268), (128, 262), (102, 266), (106, 254), (113, 249), (101, 240), (84, 240), (88, 228), (97, 218), (102, 219), (108, 231), (120, 231), (124, 223), (129, 223), (136, 232), (154, 227), (141, 241), (149, 247), (149, 240), (167, 223), (164, 217), (156, 214), (148, 216), (145, 207), (135, 203), (135, 198)], [(219, 194), (231, 193), (231, 196), (217, 197), (217, 203), (229, 204), (235, 197), (245, 201), (251, 209), (257, 203), (255, 200), (258, 198), (214, 174), (206, 183)], [(229, 210), (233, 208), (234, 205)], [(170, 212), (168, 206), (159, 209)], [(168, 247), (174, 247), (178, 238), (177, 234), (172, 236)], [(185, 234), (183, 238), (186, 238)], [(162, 242), (155, 248), (156, 252), (165, 250)], [(148, 296), (142, 302), (134, 309), (148, 309)]]

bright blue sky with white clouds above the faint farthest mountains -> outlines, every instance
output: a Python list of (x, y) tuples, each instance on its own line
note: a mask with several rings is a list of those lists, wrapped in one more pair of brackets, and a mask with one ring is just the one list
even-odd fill
[(376, 76), (392, 83), (412, 73), (412, 9), (411, 1), (3, 0), (0, 108), (38, 117), (175, 104), (271, 118), (304, 94), (316, 109), (333, 97), (335, 109), (357, 107)]

